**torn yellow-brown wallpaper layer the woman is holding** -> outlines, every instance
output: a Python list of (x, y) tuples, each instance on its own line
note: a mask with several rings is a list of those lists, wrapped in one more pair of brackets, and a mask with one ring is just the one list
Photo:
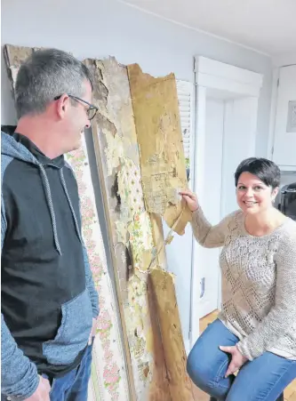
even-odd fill
[(147, 211), (164, 216), (171, 228), (182, 213), (174, 231), (183, 234), (191, 213), (179, 195), (188, 180), (175, 76), (155, 78), (138, 64), (128, 66), (128, 75)]

